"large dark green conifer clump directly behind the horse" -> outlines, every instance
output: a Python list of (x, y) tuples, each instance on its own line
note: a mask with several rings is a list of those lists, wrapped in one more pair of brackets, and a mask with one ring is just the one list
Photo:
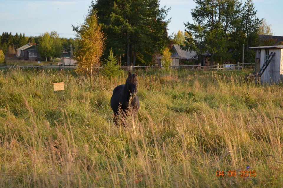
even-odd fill
[(93, 11), (97, 11), (98, 22), (109, 41), (105, 51), (112, 48), (119, 62), (126, 62), (127, 66), (149, 64), (154, 51), (163, 50), (169, 41), (170, 20), (165, 20), (169, 9), (160, 8), (159, 0), (98, 0), (92, 2), (89, 14)]

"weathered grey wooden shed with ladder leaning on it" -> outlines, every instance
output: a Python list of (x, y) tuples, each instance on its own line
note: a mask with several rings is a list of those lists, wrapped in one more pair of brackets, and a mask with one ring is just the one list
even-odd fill
[(256, 50), (255, 77), (260, 78), (261, 83), (273, 84), (283, 80), (283, 45), (250, 48)]

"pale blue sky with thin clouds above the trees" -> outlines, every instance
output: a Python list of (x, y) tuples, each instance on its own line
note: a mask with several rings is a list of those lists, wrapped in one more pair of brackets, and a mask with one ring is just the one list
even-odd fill
[[(244, 1), (244, 0), (242, 0)], [(0, 0), (0, 35), (3, 32), (39, 36), (57, 31), (59, 37), (74, 38), (72, 25), (80, 25), (88, 13), (91, 0)], [(264, 18), (275, 36), (283, 36), (279, 15), (283, 0), (254, 0), (257, 17)], [(191, 22), (193, 0), (160, 0), (160, 7), (170, 8), (167, 19), (168, 34), (184, 31), (184, 23)]]

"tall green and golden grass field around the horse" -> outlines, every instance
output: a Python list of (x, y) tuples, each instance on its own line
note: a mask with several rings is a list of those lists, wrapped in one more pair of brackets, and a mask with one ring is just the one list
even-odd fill
[(121, 127), (110, 98), (126, 73), (2, 69), (0, 187), (283, 187), (282, 84), (250, 73), (140, 70)]

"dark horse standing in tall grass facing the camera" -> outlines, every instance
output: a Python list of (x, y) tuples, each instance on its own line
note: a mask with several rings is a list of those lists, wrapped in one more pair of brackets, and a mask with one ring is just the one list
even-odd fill
[(113, 94), (110, 100), (111, 108), (114, 112), (114, 122), (117, 124), (117, 118), (119, 118), (119, 109), (121, 109), (122, 119), (125, 115), (129, 115), (129, 110), (132, 109), (135, 113), (139, 110), (139, 97), (136, 95), (138, 90), (137, 86), (137, 72), (131, 74), (126, 80), (125, 85), (119, 85), (114, 88)]

